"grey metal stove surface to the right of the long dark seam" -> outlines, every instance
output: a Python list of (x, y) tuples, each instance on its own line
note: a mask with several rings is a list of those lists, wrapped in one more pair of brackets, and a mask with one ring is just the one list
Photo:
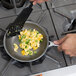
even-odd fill
[[(70, 28), (71, 21), (76, 18), (76, 0), (52, 0), (47, 2), (49, 13), (53, 19), (54, 27), (58, 38), (61, 38), (62, 32)], [(65, 55), (67, 65), (76, 64), (76, 57), (70, 58)]]

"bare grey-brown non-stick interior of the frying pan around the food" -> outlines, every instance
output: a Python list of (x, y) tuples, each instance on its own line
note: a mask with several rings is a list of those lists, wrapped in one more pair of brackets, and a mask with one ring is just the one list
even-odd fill
[(14, 52), (13, 44), (16, 43), (16, 44), (19, 45), (18, 36), (13, 36), (13, 37), (10, 37), (10, 38), (5, 37), (4, 47), (6, 49), (6, 52), (12, 58), (14, 58), (18, 61), (21, 61), (21, 62), (34, 61), (34, 60), (40, 58), (46, 52), (46, 48), (47, 48), (47, 44), (48, 44), (46, 32), (41, 27), (39, 27), (37, 24), (34, 24), (34, 23), (25, 23), (23, 29), (36, 29), (41, 34), (43, 34), (43, 41), (40, 43), (40, 47), (37, 49), (37, 51), (38, 51), (37, 54), (34, 54), (32, 56), (22, 56), (20, 48), (18, 49), (18, 52)]

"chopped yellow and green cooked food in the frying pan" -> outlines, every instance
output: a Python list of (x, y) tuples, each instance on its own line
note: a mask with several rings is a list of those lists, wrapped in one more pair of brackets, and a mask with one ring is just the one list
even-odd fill
[(37, 53), (37, 49), (40, 47), (40, 42), (43, 41), (43, 35), (36, 29), (25, 29), (18, 35), (20, 44), (14, 43), (14, 51), (17, 52), (18, 47), (22, 49), (21, 54), (24, 56), (33, 55)]

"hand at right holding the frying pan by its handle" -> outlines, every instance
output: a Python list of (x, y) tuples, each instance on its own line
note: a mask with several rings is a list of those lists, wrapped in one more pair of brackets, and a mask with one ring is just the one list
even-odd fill
[(65, 54), (76, 56), (76, 34), (68, 34), (58, 41), (54, 41), (55, 44), (59, 45), (58, 50), (63, 50)]

